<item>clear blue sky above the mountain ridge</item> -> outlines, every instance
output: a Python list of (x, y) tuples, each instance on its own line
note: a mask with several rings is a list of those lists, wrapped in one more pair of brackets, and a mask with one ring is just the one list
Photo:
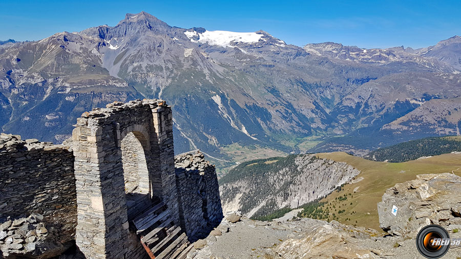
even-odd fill
[(115, 26), (148, 12), (171, 26), (253, 32), (288, 44), (324, 41), (362, 48), (421, 48), (461, 34), (461, 1), (5, 1), (0, 40), (38, 40), (56, 32)]

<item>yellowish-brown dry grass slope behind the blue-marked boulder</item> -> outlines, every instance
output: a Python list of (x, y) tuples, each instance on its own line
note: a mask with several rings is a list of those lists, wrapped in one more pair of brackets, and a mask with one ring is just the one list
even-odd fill
[[(461, 167), (461, 154), (444, 154), (403, 163), (375, 162), (350, 156), (344, 152), (320, 153), (318, 157), (346, 162), (361, 171), (355, 178), (363, 177), (362, 181), (346, 184), (339, 192), (333, 191), (322, 201), (331, 204), (325, 206), (334, 205), (337, 211), (344, 210), (342, 213), (336, 211), (338, 221), (373, 229), (380, 229), (376, 204), (381, 201), (386, 189), (396, 183), (414, 180), (417, 175), (421, 174), (454, 171), (456, 175), (461, 176), (461, 170), (456, 171)], [(360, 188), (354, 193), (354, 188), (359, 186)], [(347, 201), (340, 201), (338, 198), (344, 195)], [(331, 212), (335, 212), (334, 209), (330, 209)]]

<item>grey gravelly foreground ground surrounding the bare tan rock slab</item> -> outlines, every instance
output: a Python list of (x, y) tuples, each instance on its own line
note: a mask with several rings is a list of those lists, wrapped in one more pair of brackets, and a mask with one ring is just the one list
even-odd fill
[[(242, 218), (237, 223), (223, 221), (217, 229), (222, 235), (209, 235), (205, 240), (207, 245), (202, 249), (193, 249), (188, 258), (209, 259), (240, 259), (240, 258), (332, 258), (329, 256), (310, 256), (309, 253), (302, 257), (280, 256), (276, 248), (286, 240), (302, 239), (308, 236), (312, 229), (325, 225), (336, 227), (343, 234), (350, 234), (353, 226), (339, 223), (327, 223), (319, 220), (300, 219), (285, 222), (262, 222)], [(359, 230), (360, 232), (360, 230)], [(451, 238), (461, 238), (461, 233), (450, 233)], [(340, 257), (340, 258), (391, 258), (391, 259), (419, 259), (424, 258), (416, 249), (415, 240), (403, 240), (399, 236), (374, 236), (368, 239), (359, 238), (360, 242), (368, 247), (373, 253), (369, 257)], [(349, 240), (350, 241), (350, 240)], [(333, 241), (331, 241), (333, 242)], [(394, 247), (399, 245), (398, 247)], [(328, 244), (330, 245), (330, 244)], [(331, 249), (335, 246), (343, 247), (347, 242), (331, 243)], [(301, 246), (303, 246), (301, 244)], [(374, 254), (377, 253), (377, 254)], [(317, 251), (318, 254), (318, 251)], [(325, 252), (328, 254), (328, 252)], [(336, 257), (335, 257), (336, 258)], [(443, 258), (461, 258), (461, 247), (450, 248)]]

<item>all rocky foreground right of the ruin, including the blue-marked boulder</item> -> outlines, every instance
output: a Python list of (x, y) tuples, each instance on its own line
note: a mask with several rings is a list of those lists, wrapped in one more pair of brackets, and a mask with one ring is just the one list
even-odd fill
[[(378, 204), (384, 230), (295, 218), (261, 222), (241, 217), (223, 221), (217, 230), (193, 249), (189, 258), (395, 258), (421, 255), (415, 247), (416, 233), (427, 224), (444, 226), (451, 238), (461, 238), (461, 177), (453, 174), (419, 175), (396, 184)], [(398, 207), (396, 215), (392, 207)], [(450, 247), (447, 258), (461, 257), (459, 245)]]

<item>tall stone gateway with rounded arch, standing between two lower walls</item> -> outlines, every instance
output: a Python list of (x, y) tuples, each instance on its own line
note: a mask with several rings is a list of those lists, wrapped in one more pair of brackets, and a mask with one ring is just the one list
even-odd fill
[[(166, 204), (179, 223), (171, 107), (149, 99), (115, 102), (83, 113), (75, 126), (78, 248), (87, 258), (144, 258), (129, 231), (136, 208), (127, 205), (124, 170), (138, 170), (128, 181), (144, 198)], [(141, 150), (127, 147), (130, 142), (139, 143)], [(127, 154), (136, 161), (124, 158)], [(142, 168), (136, 165), (140, 161)]]

